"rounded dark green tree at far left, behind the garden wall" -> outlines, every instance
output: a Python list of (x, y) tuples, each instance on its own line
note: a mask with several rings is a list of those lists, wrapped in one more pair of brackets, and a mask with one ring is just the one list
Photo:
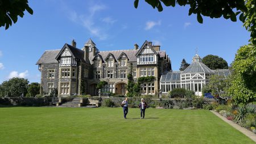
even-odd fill
[(26, 96), (28, 83), (28, 80), (24, 78), (11, 78), (0, 85), (0, 96)]

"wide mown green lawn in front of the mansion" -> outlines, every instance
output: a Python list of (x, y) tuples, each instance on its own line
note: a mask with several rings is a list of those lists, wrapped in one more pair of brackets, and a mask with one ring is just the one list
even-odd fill
[(0, 143), (254, 143), (210, 111), (0, 108)]

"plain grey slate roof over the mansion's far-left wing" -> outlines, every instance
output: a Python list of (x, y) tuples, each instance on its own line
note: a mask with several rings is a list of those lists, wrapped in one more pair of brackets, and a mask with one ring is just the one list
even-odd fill
[(58, 61), (55, 59), (57, 54), (59, 54), (60, 49), (57, 50), (46, 50), (42, 56), (39, 58), (38, 62), (36, 62), (36, 65), (44, 64), (44, 63), (58, 63)]

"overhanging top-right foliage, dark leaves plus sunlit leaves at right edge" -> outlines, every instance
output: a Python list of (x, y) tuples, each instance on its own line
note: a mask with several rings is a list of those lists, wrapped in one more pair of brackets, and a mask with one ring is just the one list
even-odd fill
[[(203, 23), (203, 16), (210, 18), (230, 19), (232, 22), (237, 21), (237, 16), (240, 14), (239, 19), (243, 22), (243, 26), (251, 32), (251, 43), (256, 45), (256, 1), (255, 0), (145, 0), (154, 9), (163, 11), (162, 3), (167, 7), (175, 7), (176, 3), (180, 6), (189, 5), (188, 15), (196, 14), (197, 21)], [(137, 8), (139, 0), (134, 0), (134, 7)]]

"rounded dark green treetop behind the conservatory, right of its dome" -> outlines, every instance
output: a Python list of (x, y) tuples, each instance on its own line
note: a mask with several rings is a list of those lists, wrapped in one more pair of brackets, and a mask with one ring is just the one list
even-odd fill
[(228, 69), (228, 62), (223, 58), (209, 54), (205, 56), (202, 62), (207, 65), (210, 69)]

